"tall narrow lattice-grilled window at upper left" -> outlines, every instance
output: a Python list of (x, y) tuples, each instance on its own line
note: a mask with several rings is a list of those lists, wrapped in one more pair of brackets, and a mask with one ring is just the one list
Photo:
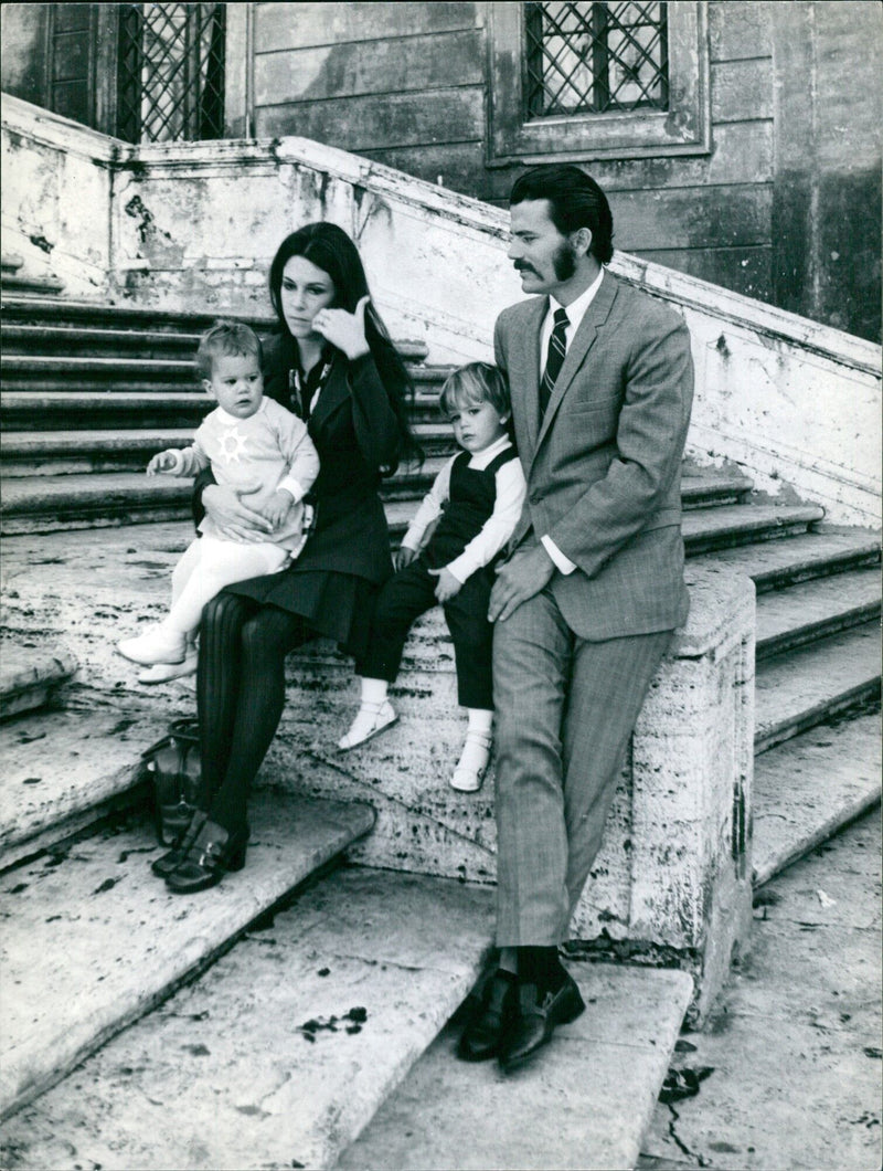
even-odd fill
[(129, 142), (223, 136), (223, 4), (122, 4), (117, 135)]

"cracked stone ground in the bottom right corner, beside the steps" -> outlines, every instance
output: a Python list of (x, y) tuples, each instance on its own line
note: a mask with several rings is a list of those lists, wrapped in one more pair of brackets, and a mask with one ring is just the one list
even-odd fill
[(674, 1066), (643, 1171), (881, 1165), (881, 822), (875, 809), (763, 889), (751, 952)]

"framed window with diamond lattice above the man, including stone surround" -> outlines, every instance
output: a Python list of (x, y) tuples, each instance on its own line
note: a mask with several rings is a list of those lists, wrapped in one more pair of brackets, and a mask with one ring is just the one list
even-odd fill
[(709, 149), (706, 4), (491, 2), (489, 165)]

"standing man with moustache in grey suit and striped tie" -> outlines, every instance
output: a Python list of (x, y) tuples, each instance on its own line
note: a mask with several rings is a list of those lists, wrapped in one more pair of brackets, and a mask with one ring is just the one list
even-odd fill
[(607, 199), (577, 166), (510, 198), (529, 301), (498, 317), (527, 499), (490, 603), (497, 719), (497, 947), (465, 1060), (527, 1060), (584, 1004), (561, 966), (629, 738), (687, 618), (683, 320), (606, 271)]

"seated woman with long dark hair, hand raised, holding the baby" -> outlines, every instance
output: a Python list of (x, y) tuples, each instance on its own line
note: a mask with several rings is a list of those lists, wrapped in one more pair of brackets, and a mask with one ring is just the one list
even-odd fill
[[(411, 383), (350, 237), (324, 222), (287, 237), (270, 266), (270, 297), (278, 333), (264, 352), (264, 391), (306, 420), (320, 461), (316, 522), (288, 569), (229, 587), (202, 612), (201, 808), (153, 863), (181, 893), (244, 864), (248, 792), (282, 715), (285, 656), (315, 637), (364, 650), (374, 593), (392, 574), (378, 489), (419, 456), (406, 413)], [(247, 497), (211, 477), (195, 493), (226, 534), (253, 540), (265, 530)]]

